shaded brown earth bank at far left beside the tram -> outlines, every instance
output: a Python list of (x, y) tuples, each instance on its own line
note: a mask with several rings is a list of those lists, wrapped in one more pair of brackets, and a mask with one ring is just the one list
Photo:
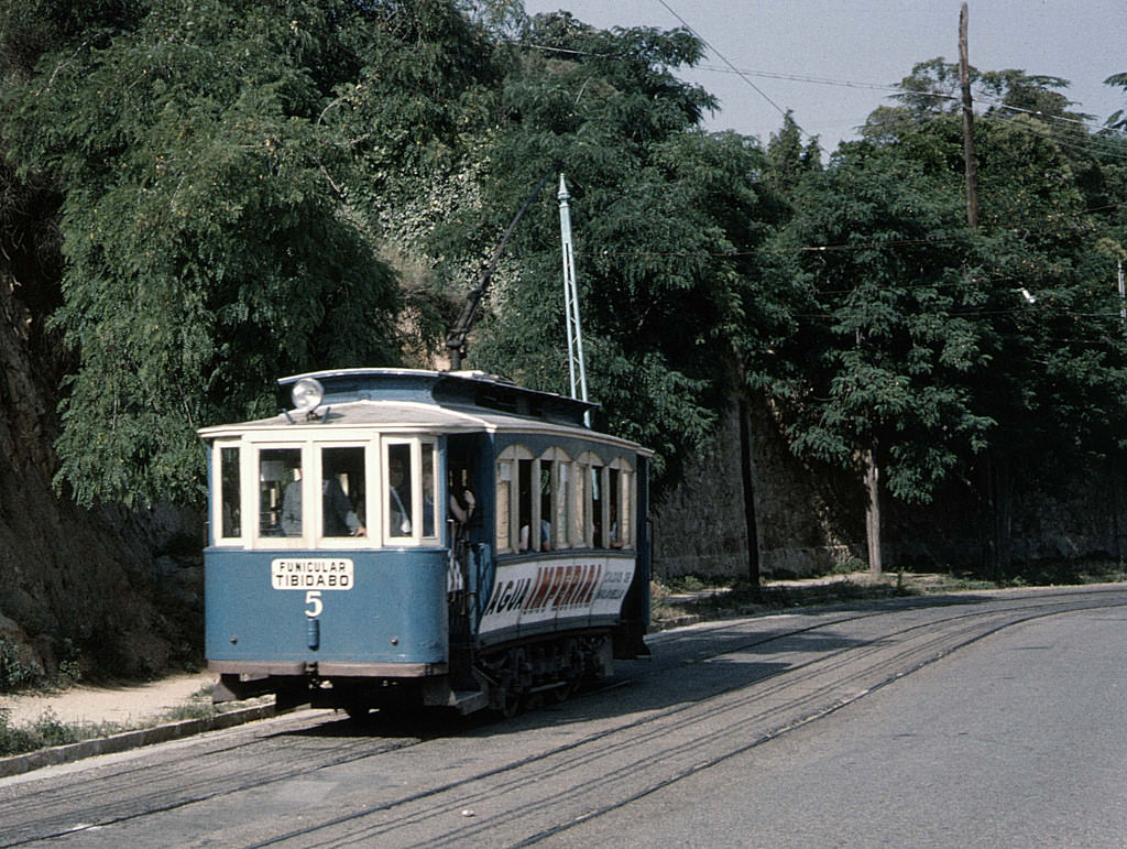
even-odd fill
[(0, 276), (2, 656), (48, 675), (62, 662), (87, 674), (144, 676), (190, 661), (198, 603), (194, 610), (169, 592), (170, 572), (195, 569), (198, 580), (190, 518), (81, 510), (52, 489), (57, 374), (45, 316), (20, 295), (10, 274)]

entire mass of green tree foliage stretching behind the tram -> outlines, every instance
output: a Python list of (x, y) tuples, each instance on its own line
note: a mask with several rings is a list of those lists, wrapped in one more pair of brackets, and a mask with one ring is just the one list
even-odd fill
[[(987, 448), (1044, 469), (1127, 431), (1107, 281), (1127, 144), (1088, 134), (1063, 79), (971, 71), (970, 232), (938, 59), (823, 167), (789, 115), (765, 150), (701, 131), (716, 100), (676, 77), (703, 56), (681, 29), (515, 0), (0, 0), (0, 228), (59, 283), (28, 297), (72, 357), (59, 484), (82, 504), (197, 501), (194, 430), (273, 412), (281, 374), (426, 361), (558, 169), (598, 424), (655, 448), (660, 480), (737, 386), (804, 457), (876, 446), (905, 501)], [(566, 391), (553, 195), (470, 363)]]

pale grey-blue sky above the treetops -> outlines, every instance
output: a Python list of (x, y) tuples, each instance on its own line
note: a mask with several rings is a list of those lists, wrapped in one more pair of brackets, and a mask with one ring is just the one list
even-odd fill
[[(687, 25), (710, 45), (680, 76), (720, 99), (709, 130), (766, 142), (786, 109), (833, 150), (890, 104), (912, 67), (959, 59), (960, 0), (525, 0), (530, 15), (566, 9), (602, 29)], [(968, 0), (967, 44), (979, 71), (1020, 69), (1071, 81), (1064, 94), (1095, 123), (1127, 108), (1103, 85), (1127, 72), (1127, 0)], [(733, 67), (743, 74), (736, 73)]]

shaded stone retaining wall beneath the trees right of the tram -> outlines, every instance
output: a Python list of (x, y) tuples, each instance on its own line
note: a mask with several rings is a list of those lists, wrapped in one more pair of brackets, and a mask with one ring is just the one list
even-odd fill
[[(761, 574), (811, 575), (846, 560), (864, 560), (860, 481), (799, 462), (765, 404), (752, 406), (751, 433)], [(653, 511), (656, 575), (747, 575), (739, 462), (734, 405), (716, 439), (699, 446), (687, 463), (683, 486)], [(885, 566), (992, 575), (996, 515), (1005, 516), (1013, 564), (1009, 574), (1030, 573), (1039, 565), (1121, 563), (1127, 556), (1124, 471), (1093, 461), (1074, 469), (1067, 480), (1027, 474), (1004, 513), (983, 504), (965, 480), (952, 483), (925, 507), (886, 499)]]

